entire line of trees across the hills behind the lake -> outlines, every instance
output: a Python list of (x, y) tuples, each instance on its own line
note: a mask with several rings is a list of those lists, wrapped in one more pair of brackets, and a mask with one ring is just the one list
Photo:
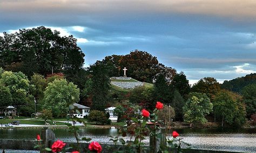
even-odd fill
[[(145, 51), (110, 55), (86, 68), (83, 64), (84, 53), (73, 36), (60, 37), (58, 31), (44, 26), (4, 33), (0, 37), (0, 107), (18, 106), (29, 115), (36, 101), (38, 111), (63, 116), (75, 102), (96, 110), (116, 106), (119, 120), (129, 122), (137, 109), (153, 111), (156, 101), (161, 101), (172, 109), (176, 121), (192, 125), (210, 119), (224, 126), (242, 126), (255, 114), (255, 84), (242, 84), (235, 93), (232, 81), (220, 85), (206, 77), (191, 87), (183, 72), (164, 66)], [(129, 77), (153, 86), (114, 89), (110, 77), (122, 76), (123, 67)]]

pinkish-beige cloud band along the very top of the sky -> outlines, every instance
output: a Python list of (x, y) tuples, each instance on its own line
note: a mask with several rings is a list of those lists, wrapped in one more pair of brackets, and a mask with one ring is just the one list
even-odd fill
[[(31, 7), (33, 6), (33, 7)], [(116, 15), (122, 17), (127, 13), (136, 15), (149, 13), (184, 13), (195, 15), (208, 15), (218, 17), (234, 18), (236, 20), (255, 20), (256, 2), (254, 0), (2, 0), (0, 2), (0, 10), (8, 12), (42, 12), (49, 13), (80, 13), (90, 15), (109, 15), (118, 12)], [(66, 11), (69, 10), (69, 11)]]

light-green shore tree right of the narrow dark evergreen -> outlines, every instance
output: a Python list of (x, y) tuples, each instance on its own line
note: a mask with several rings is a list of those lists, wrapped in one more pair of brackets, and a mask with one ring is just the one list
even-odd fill
[(190, 123), (206, 123), (205, 115), (212, 112), (213, 105), (206, 94), (190, 93), (189, 98), (183, 107), (184, 121)]

